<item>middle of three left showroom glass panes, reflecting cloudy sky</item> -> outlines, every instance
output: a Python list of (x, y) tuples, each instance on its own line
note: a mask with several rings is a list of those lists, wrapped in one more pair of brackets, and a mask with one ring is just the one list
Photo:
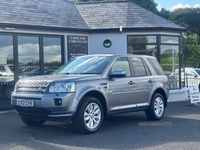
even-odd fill
[(40, 75), (40, 72), (31, 72), (39, 68), (39, 38), (19, 36), (18, 58), (24, 77)]

